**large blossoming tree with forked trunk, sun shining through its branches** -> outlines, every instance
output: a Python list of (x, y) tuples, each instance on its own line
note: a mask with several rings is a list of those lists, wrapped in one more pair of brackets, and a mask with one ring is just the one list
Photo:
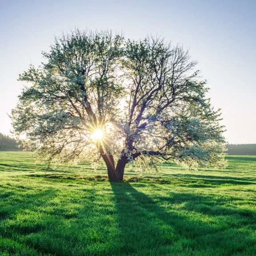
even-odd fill
[(131, 162), (223, 163), (220, 110), (180, 45), (75, 30), (42, 54), (46, 63), (20, 75), (30, 85), (11, 118), (14, 133), (49, 163), (103, 160), (109, 180), (123, 180)]

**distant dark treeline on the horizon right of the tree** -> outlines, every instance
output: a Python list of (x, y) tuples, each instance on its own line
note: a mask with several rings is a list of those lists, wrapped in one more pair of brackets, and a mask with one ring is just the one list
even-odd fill
[(256, 144), (227, 144), (228, 155), (256, 156)]

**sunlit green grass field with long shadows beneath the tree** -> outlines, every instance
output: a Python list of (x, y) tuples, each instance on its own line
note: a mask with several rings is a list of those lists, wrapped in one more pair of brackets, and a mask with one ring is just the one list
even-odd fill
[(45, 172), (30, 152), (0, 152), (0, 256), (255, 256), (256, 156), (227, 160), (109, 183), (104, 168)]

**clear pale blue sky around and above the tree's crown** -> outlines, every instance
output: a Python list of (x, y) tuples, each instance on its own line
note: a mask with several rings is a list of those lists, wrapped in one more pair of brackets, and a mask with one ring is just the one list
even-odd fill
[(222, 109), (228, 143), (256, 143), (255, 26), (256, 0), (0, 0), (0, 132), (12, 129), (19, 74), (45, 61), (54, 36), (89, 28), (188, 48)]

